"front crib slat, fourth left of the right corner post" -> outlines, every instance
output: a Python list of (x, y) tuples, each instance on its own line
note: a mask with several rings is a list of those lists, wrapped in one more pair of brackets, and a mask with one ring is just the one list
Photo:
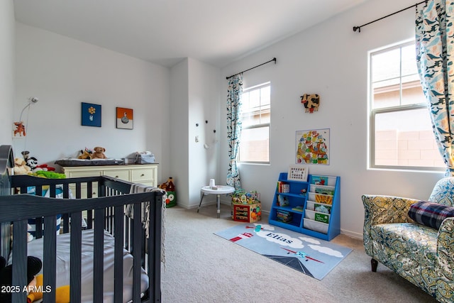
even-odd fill
[(80, 303), (81, 297), (81, 255), (82, 255), (82, 212), (71, 213), (70, 236), (70, 302)]

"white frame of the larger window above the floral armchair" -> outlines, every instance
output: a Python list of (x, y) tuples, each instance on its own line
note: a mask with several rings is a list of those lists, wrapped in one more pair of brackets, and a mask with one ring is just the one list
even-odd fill
[[(400, 43), (395, 43), (393, 45), (388, 45), (383, 48), (379, 48), (376, 50), (371, 50), (367, 53), (367, 67), (368, 67), (368, 75), (367, 75), (367, 114), (369, 118), (367, 119), (369, 131), (367, 132), (367, 136), (369, 137), (369, 146), (368, 150), (368, 169), (372, 170), (403, 170), (403, 171), (432, 171), (432, 172), (440, 172), (444, 171), (445, 167), (436, 167), (436, 166), (404, 166), (404, 165), (377, 165), (375, 164), (375, 120), (377, 114), (386, 114), (386, 113), (397, 113), (399, 111), (411, 111), (415, 109), (427, 109), (427, 103), (415, 103), (415, 104), (404, 104), (399, 106), (386, 106), (374, 109), (374, 83), (372, 82), (372, 57), (373, 55), (377, 55), (380, 53), (389, 52), (395, 49), (402, 49), (409, 45), (414, 45), (415, 40), (405, 40)], [(402, 51), (402, 50), (401, 50)], [(404, 84), (402, 83), (402, 57), (400, 57), (400, 67), (399, 67), (399, 104), (402, 104), (402, 87)]]

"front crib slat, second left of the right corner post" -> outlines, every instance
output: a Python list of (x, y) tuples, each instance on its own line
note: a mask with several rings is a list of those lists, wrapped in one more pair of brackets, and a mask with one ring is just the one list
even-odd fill
[(114, 302), (123, 302), (123, 209), (115, 206), (114, 214)]

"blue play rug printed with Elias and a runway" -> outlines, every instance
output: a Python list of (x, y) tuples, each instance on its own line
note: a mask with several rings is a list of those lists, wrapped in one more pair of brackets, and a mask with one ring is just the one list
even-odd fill
[(239, 224), (214, 234), (318, 280), (328, 275), (352, 251), (304, 233), (260, 222)]

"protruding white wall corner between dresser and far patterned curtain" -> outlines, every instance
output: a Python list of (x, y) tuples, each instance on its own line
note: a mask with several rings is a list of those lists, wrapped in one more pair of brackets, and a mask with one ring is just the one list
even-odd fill
[(185, 208), (198, 206), (200, 188), (217, 177), (219, 77), (218, 68), (192, 58), (171, 69), (171, 172)]

